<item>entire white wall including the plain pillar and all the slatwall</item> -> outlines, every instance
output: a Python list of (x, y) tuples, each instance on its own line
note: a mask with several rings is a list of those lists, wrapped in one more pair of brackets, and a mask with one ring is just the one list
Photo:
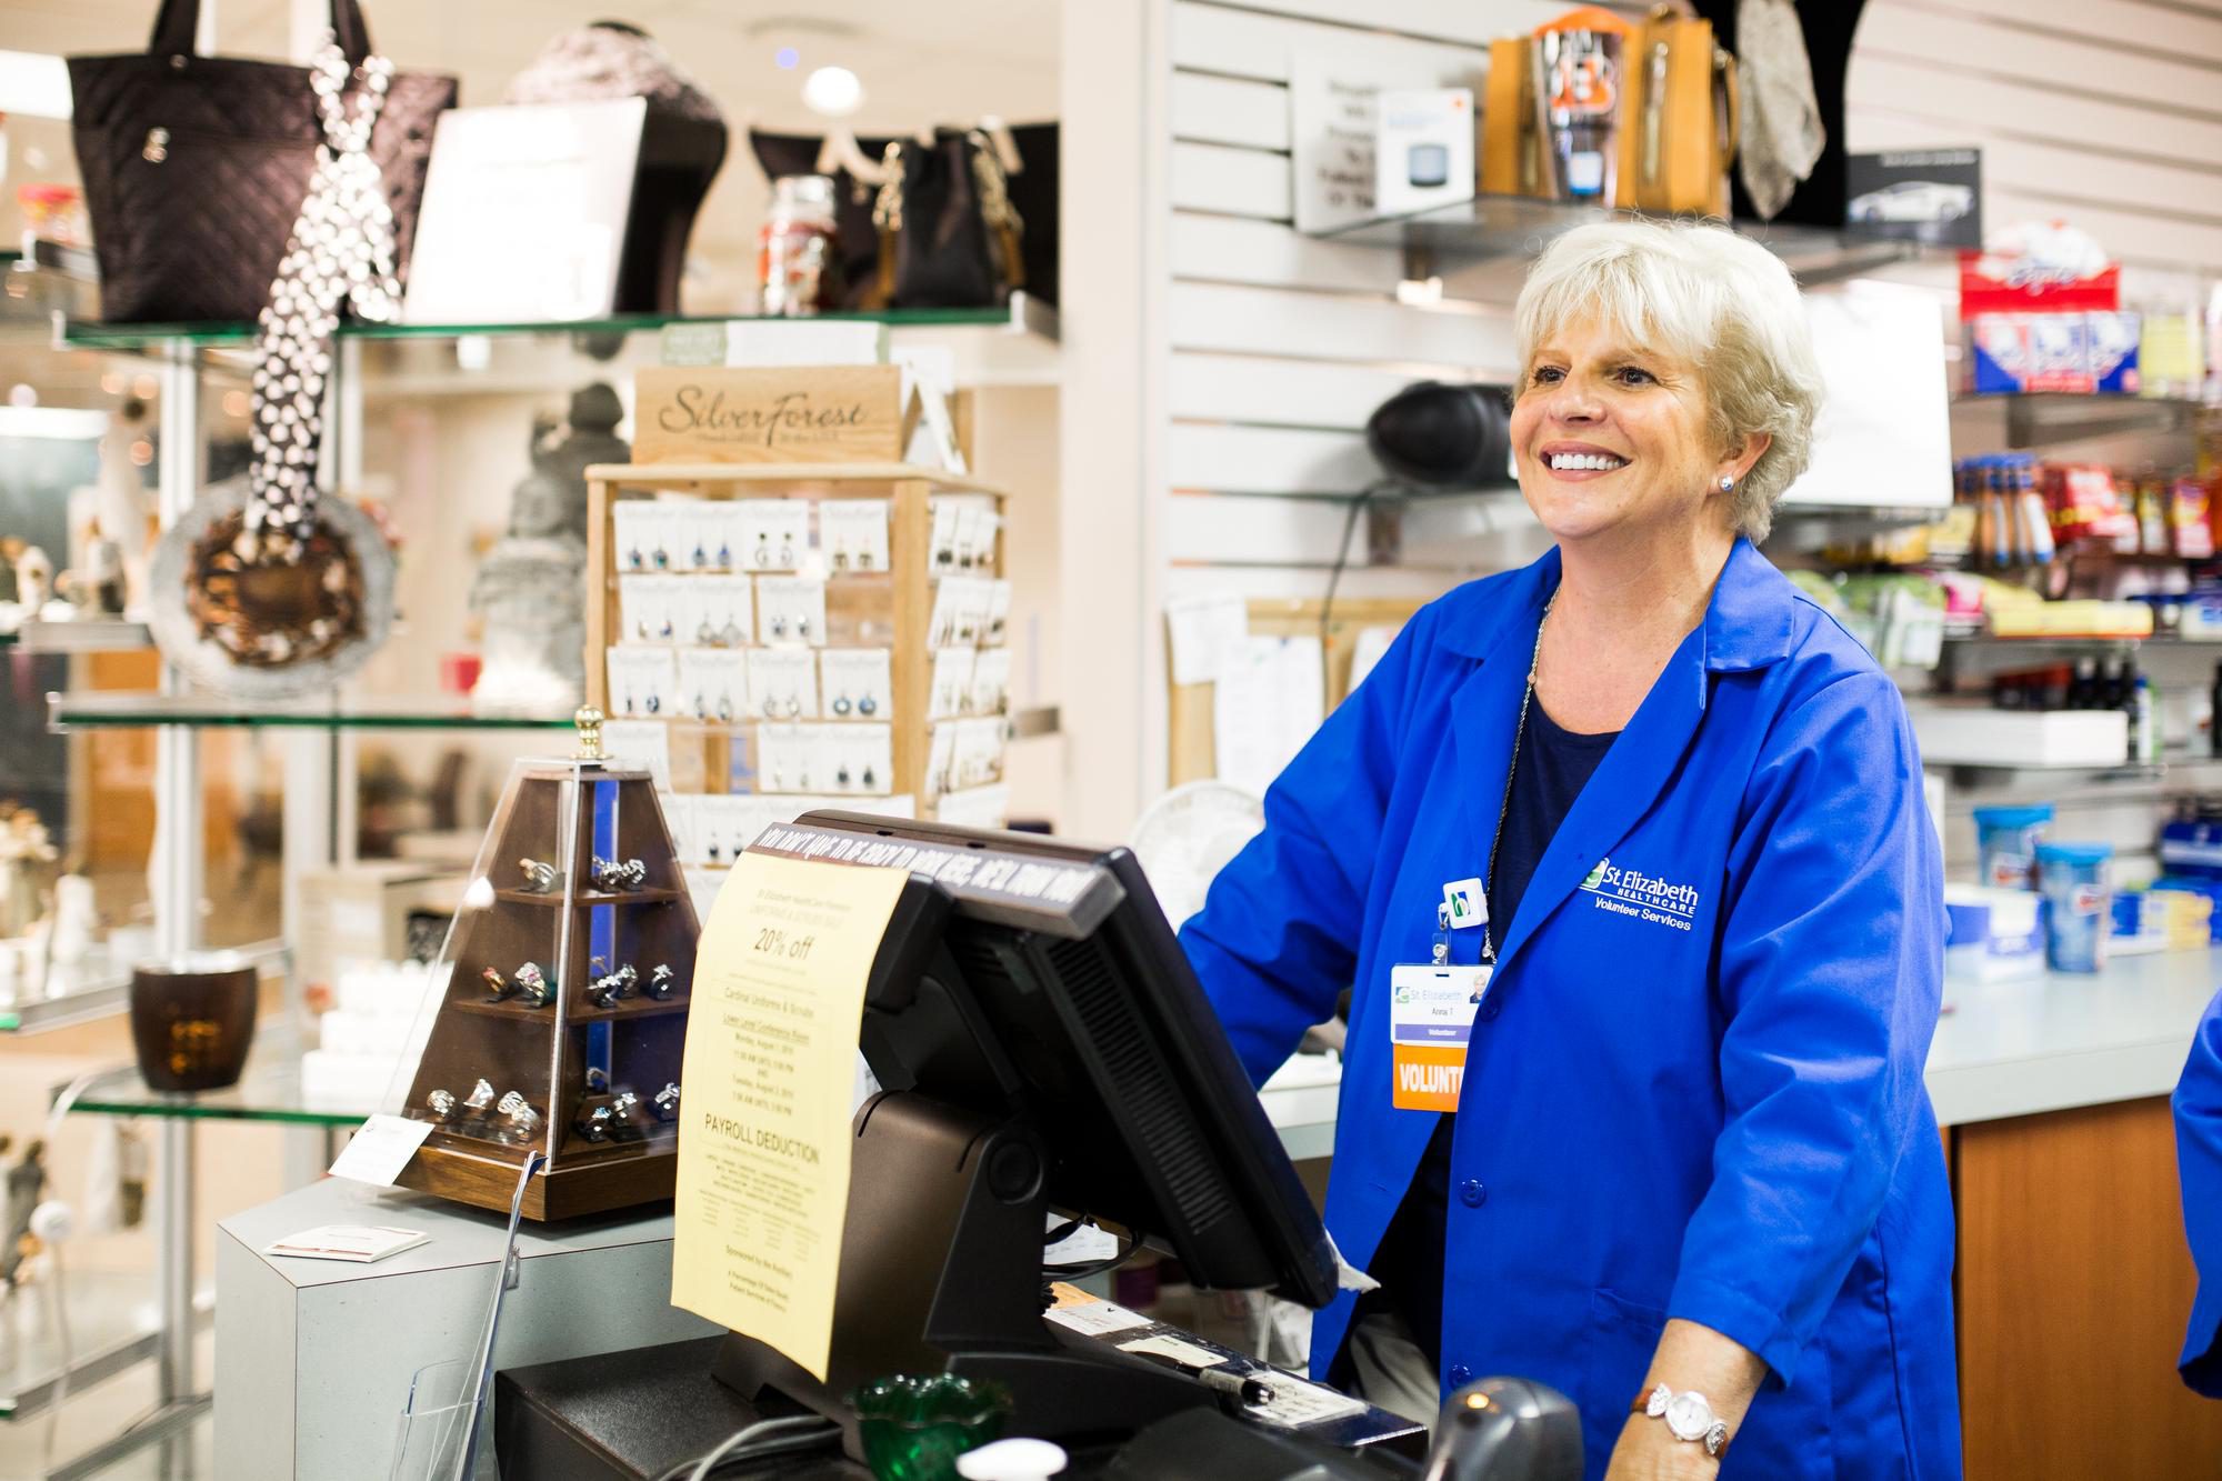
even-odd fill
[[(1067, 583), (1069, 612), (1091, 618), (1069, 634), (1067, 676), (1104, 680), (1100, 703), (1067, 703), (1080, 729), (1069, 787), (1100, 834), (1164, 787), (1164, 600), (1318, 596), (1338, 496), (1373, 476), (1367, 414), (1420, 376), (1513, 371), (1518, 274), (1464, 274), (1444, 305), (1404, 307), (1393, 249), (1293, 229), (1293, 58), (1373, 56), (1478, 82), (1491, 38), (1567, 7), (1142, 0), (1098, 13), (1124, 9), (1064, 11)], [(1138, 78), (1120, 76), (1129, 62)], [(1991, 222), (2071, 216), (2129, 262), (2222, 271), (2222, 4), (1873, 0), (1849, 93), (1853, 149), (1982, 145)], [(1082, 140), (1091, 153), (1075, 158)], [(1135, 205), (1140, 229), (1120, 216)], [(1135, 374), (1142, 387), (1124, 380)], [(1504, 496), (1427, 509), (1407, 518), (1398, 565), (1353, 549), (1342, 592), (1429, 596), (1529, 549)], [(1138, 578), (1100, 569), (1127, 554), (1144, 560)], [(1093, 734), (1100, 723), (1120, 729)]]

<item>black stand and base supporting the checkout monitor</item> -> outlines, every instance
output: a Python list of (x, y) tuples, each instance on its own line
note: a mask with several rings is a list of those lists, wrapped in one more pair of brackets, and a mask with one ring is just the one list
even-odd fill
[(1013, 1434), (1080, 1443), (1215, 1403), (1187, 1374), (1060, 1339), (1042, 1319), (1047, 1214), (1042, 1143), (1024, 1121), (880, 1094), (855, 1119), (827, 1379), (740, 1332), (713, 1372), (744, 1399), (771, 1390), (842, 1423), (871, 1379), (991, 1379), (1011, 1392)]

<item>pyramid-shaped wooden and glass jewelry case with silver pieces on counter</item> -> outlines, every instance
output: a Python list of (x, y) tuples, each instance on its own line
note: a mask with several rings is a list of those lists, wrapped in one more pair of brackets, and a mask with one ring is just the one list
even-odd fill
[(700, 925), (647, 772), (578, 712), (569, 761), (520, 761), (436, 972), (404, 1114), (431, 1121), (402, 1187), (527, 1219), (669, 1199)]

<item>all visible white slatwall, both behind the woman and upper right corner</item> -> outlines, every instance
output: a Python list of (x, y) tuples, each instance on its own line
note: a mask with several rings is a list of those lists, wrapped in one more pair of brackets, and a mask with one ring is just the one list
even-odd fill
[[(1509, 276), (1489, 289), (1491, 314), (1413, 309), (1395, 302), (1393, 251), (1289, 227), (1293, 58), (1322, 51), (1444, 85), (1480, 82), (1493, 36), (1560, 9), (1551, 0), (1173, 2), (1167, 411), (1178, 498), (1167, 545), (1180, 569), (1240, 560), (1255, 589), (1255, 563), (1287, 560), (1287, 592), (1315, 592), (1340, 500), (1322, 507), (1304, 496), (1371, 480), (1360, 436), (1371, 409), (1415, 378), (1513, 376)], [(2124, 260), (2222, 271), (2222, 7), (1873, 0), (1846, 89), (1855, 149), (1980, 145), (1993, 222), (2071, 216)], [(1451, 305), (1462, 307), (1471, 305)], [(1475, 531), (1451, 529), (1449, 507), (1418, 518), (1433, 551), (1478, 547)], [(1524, 514), (1491, 518), (1518, 525)], [(1480, 540), (1502, 545), (1502, 529)]]

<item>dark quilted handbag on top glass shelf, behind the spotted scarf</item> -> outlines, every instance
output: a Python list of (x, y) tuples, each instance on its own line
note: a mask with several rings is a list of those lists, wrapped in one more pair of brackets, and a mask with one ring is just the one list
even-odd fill
[[(309, 191), (309, 69), (193, 56), (198, 20), (200, 0), (162, 0), (147, 51), (69, 58), (107, 322), (253, 322)], [(331, 0), (331, 31), (349, 62), (371, 53), (356, 0)], [(371, 133), (402, 274), (433, 120), (453, 105), (456, 78), (398, 73)]]

